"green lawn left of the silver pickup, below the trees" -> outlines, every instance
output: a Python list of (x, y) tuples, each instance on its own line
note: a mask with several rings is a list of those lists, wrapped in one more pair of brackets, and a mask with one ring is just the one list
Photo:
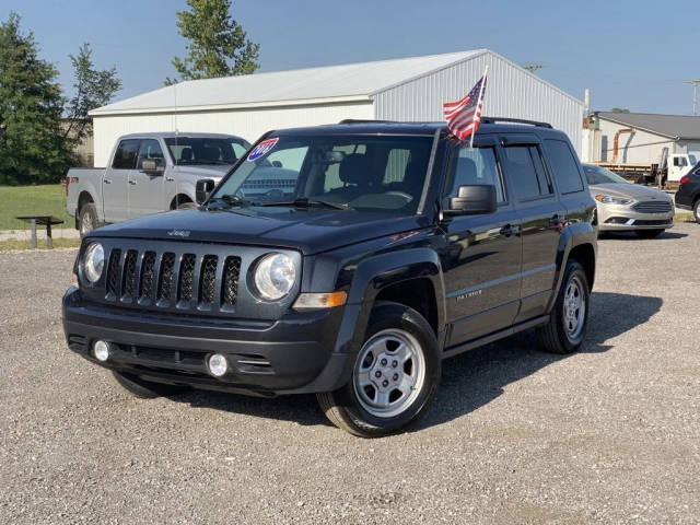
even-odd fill
[(18, 215), (54, 215), (63, 220), (54, 229), (74, 228), (73, 218), (66, 213), (66, 189), (60, 184), (0, 186), (0, 230), (28, 230), (30, 224), (18, 221)]

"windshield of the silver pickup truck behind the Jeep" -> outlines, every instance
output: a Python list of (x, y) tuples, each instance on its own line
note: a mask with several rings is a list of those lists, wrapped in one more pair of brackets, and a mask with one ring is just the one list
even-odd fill
[(234, 164), (250, 147), (238, 138), (171, 137), (165, 139), (173, 162), (191, 164)]

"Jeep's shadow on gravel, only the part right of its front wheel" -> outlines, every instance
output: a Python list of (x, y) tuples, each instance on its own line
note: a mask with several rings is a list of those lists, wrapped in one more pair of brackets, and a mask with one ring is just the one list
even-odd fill
[[(591, 303), (588, 332), (581, 353), (611, 349), (606, 343), (608, 339), (646, 323), (661, 310), (663, 300), (593, 292)], [(542, 352), (534, 331), (528, 330), (448, 359), (443, 362), (442, 384), (433, 407), (416, 430), (469, 413), (500, 396), (505, 385), (569, 357)]]

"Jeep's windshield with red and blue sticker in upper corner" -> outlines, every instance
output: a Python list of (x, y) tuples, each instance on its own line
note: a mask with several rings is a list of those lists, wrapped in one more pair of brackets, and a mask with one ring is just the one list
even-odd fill
[(212, 198), (264, 206), (305, 200), (412, 214), (423, 190), (432, 142), (432, 137), (387, 135), (268, 138)]

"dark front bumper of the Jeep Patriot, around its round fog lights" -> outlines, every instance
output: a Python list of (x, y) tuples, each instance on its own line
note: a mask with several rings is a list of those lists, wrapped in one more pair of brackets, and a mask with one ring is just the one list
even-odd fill
[[(68, 346), (88, 361), (145, 381), (264, 396), (329, 392), (348, 381), (353, 360), (334, 352), (341, 316), (332, 308), (275, 322), (212, 319), (90, 303), (75, 288), (63, 296)], [(110, 343), (106, 362), (92, 354), (98, 339)], [(208, 373), (212, 353), (229, 360), (223, 377)]]

